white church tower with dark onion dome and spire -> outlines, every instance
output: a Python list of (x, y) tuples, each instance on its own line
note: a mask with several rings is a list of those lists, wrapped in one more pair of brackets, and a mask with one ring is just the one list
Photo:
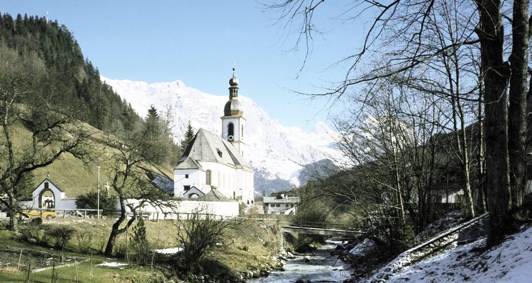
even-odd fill
[(238, 79), (235, 77), (235, 68), (233, 68), (233, 77), (229, 80), (229, 100), (223, 108), (221, 120), (222, 139), (231, 142), (240, 156), (244, 156), (245, 119), (242, 117), (242, 107), (238, 101)]

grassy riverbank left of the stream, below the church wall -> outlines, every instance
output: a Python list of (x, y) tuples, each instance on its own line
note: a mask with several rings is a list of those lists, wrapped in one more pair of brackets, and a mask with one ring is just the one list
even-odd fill
[[(116, 242), (112, 262), (120, 265), (99, 265), (110, 261), (97, 255), (105, 247), (112, 224), (111, 219), (50, 219), (27, 229), (26, 234), (9, 232), (4, 228), (4, 231), (0, 231), (0, 241), (16, 251), (4, 253), (5, 262), (0, 265), (0, 282), (24, 281), (28, 274), (35, 282), (49, 282), (50, 271), (35, 271), (36, 262), (32, 265), (31, 260), (24, 260), (20, 268), (12, 267), (18, 265), (21, 254), (24, 259), (24, 255), (29, 255), (33, 250), (46, 251), (48, 258), (60, 258), (61, 251), (53, 248), (55, 242), (46, 236), (46, 231), (65, 226), (75, 229), (74, 236), (65, 246), (65, 254), (72, 258), (92, 260), (79, 263), (75, 268), (62, 267), (61, 272), (77, 272), (77, 277), (84, 282), (94, 281), (92, 278), (97, 278), (97, 282), (160, 282), (162, 278), (167, 282), (243, 282), (245, 279), (268, 275), (272, 270), (281, 268), (282, 262), (287, 260), (287, 254), (283, 254), (282, 231), (275, 221), (265, 224), (246, 220), (240, 221), (226, 233), (222, 241), (209, 248), (194, 275), (176, 273), (177, 256), (174, 255), (150, 255), (147, 262), (136, 262), (131, 249), (132, 232), (121, 234)], [(179, 246), (177, 226), (172, 221), (146, 221), (145, 226), (153, 250)], [(19, 228), (22, 231), (25, 226), (21, 225)], [(23, 236), (31, 236), (32, 240), (24, 241)], [(12, 258), (9, 265), (7, 258)], [(28, 273), (28, 269), (31, 272)], [(72, 282), (72, 278), (69, 282)]]

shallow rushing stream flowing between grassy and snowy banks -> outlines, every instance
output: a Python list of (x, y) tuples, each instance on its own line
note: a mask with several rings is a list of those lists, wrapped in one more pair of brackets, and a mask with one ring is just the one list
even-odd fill
[(327, 241), (325, 245), (314, 253), (297, 255), (284, 265), (284, 271), (274, 271), (268, 277), (246, 280), (246, 282), (279, 282), (294, 283), (298, 279), (303, 282), (310, 280), (315, 282), (343, 282), (350, 277), (349, 265), (331, 255), (340, 242)]

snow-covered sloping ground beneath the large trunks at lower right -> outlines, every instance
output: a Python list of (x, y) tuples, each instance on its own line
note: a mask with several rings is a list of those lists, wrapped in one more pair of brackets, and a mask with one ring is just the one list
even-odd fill
[(386, 282), (532, 282), (532, 227), (490, 250), (476, 251), (485, 241), (480, 238), (405, 267)]

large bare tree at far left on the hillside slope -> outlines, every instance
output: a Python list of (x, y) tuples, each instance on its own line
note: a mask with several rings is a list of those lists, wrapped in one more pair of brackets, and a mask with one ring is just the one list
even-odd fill
[[(38, 168), (63, 154), (88, 161), (88, 134), (79, 122), (48, 104), (38, 86), (45, 79), (43, 62), (36, 56), (21, 57), (0, 47), (0, 203), (9, 212), (9, 229), (16, 230), (18, 200), (29, 190), (28, 181)], [(22, 104), (31, 101), (33, 104)], [(30, 182), (31, 183), (31, 182)]]

